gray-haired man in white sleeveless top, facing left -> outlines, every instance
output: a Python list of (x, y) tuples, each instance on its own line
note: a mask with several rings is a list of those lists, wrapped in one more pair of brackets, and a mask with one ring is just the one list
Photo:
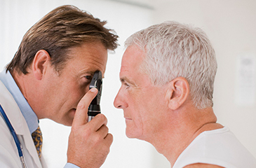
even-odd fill
[(215, 51), (206, 34), (178, 22), (126, 41), (121, 88), (126, 135), (148, 141), (172, 167), (256, 167), (255, 158), (213, 112)]

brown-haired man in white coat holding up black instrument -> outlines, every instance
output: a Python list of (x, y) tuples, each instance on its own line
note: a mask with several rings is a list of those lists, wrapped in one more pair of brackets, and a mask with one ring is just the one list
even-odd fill
[[(104, 74), (107, 50), (117, 47), (118, 36), (105, 24), (75, 6), (55, 8), (27, 31), (0, 74), (0, 104), (18, 136), (27, 167), (46, 167), (31, 136), (42, 118), (72, 126), (65, 167), (92, 168), (105, 162), (113, 141), (107, 118), (99, 114), (87, 123), (88, 106), (97, 93), (89, 90), (90, 80), (95, 71)], [(3, 118), (0, 134), (1, 167), (22, 167)]]

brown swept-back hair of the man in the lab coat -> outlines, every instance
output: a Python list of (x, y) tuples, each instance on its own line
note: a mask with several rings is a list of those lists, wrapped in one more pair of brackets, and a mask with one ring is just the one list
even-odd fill
[(118, 36), (111, 33), (112, 29), (103, 27), (106, 23), (75, 6), (55, 8), (23, 36), (6, 71), (15, 69), (18, 73), (28, 73), (27, 67), (38, 50), (49, 53), (56, 70), (61, 70), (67, 62), (69, 48), (83, 43), (100, 41), (106, 49), (114, 50), (118, 45)]

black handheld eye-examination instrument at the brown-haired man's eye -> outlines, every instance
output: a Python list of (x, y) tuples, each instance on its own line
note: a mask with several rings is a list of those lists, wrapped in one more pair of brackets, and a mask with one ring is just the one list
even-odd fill
[(102, 92), (102, 73), (95, 71), (93, 78), (90, 82), (90, 89), (97, 88), (97, 96), (93, 99), (88, 107), (88, 122), (92, 120), (98, 113), (100, 113), (100, 96)]

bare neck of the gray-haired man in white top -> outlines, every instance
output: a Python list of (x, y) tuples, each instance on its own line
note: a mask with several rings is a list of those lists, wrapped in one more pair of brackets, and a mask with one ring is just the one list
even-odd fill
[[(217, 118), (212, 108), (203, 110), (194, 109), (190, 111), (175, 112), (171, 116), (166, 129), (152, 136), (151, 143), (159, 153), (162, 153), (173, 166), (179, 155), (189, 144), (202, 132), (216, 130), (223, 126), (217, 124)], [(171, 122), (170, 122), (171, 121)], [(164, 123), (164, 122), (163, 122)]]

